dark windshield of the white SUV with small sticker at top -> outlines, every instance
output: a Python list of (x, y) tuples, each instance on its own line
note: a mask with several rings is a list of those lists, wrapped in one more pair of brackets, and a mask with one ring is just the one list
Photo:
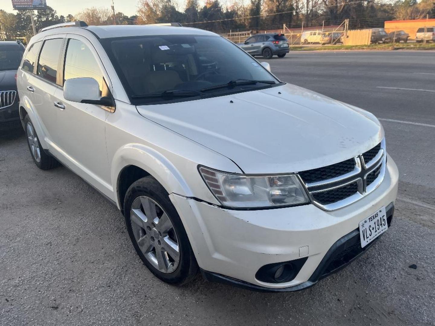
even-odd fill
[[(167, 100), (158, 94), (186, 98), (223, 93), (227, 88), (246, 91), (279, 83), (251, 56), (219, 36), (153, 35), (100, 42), (135, 104)], [(268, 83), (234, 83), (242, 80)], [(224, 84), (228, 87), (213, 87)]]

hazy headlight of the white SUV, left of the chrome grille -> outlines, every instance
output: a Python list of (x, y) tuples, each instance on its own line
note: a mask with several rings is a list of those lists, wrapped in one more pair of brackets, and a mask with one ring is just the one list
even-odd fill
[(249, 176), (224, 173), (204, 166), (200, 166), (199, 172), (214, 196), (226, 207), (279, 207), (309, 202), (295, 174)]

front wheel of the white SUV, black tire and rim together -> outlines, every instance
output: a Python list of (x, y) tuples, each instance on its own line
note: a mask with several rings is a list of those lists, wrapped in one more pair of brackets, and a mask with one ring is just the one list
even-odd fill
[(173, 285), (194, 279), (198, 264), (186, 230), (157, 180), (147, 176), (130, 186), (124, 216), (134, 249), (151, 273)]

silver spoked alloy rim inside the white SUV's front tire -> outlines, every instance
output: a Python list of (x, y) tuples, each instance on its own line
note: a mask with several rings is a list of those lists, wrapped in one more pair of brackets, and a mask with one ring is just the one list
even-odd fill
[(172, 273), (180, 262), (180, 246), (167, 213), (147, 196), (137, 197), (130, 210), (131, 228), (145, 258), (162, 273)]

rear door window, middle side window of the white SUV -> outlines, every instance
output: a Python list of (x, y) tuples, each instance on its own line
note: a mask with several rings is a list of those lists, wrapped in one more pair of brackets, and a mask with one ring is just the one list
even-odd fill
[(46, 40), (39, 55), (37, 75), (52, 83), (56, 83), (57, 65), (64, 39)]

